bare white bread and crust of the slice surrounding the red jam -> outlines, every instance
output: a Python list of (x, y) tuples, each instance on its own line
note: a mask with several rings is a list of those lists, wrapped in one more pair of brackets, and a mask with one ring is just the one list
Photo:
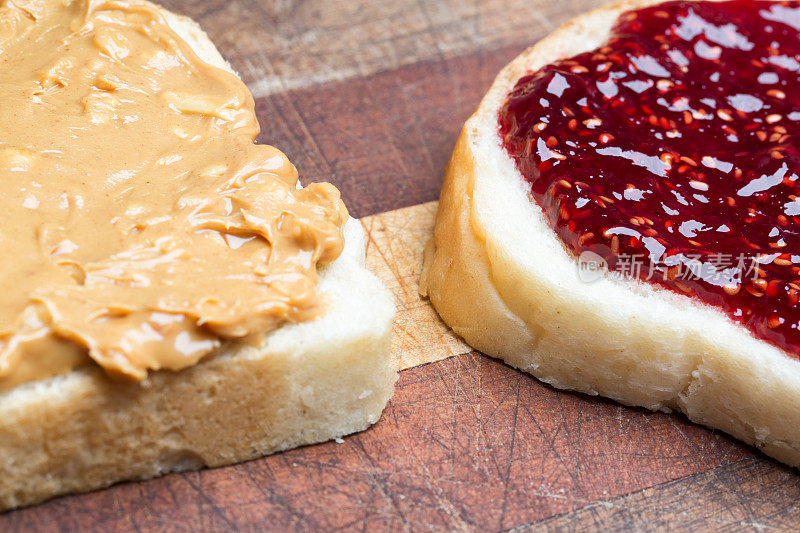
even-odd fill
[(582, 282), (501, 146), (498, 111), (522, 75), (597, 48), (622, 11), (655, 3), (584, 14), (500, 72), (447, 168), (422, 291), (473, 347), (554, 387), (678, 409), (797, 466), (800, 361), (653, 284)]

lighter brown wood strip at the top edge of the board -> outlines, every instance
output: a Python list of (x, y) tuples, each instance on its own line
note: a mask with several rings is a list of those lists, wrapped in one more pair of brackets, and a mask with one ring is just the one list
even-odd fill
[(476, 49), (531, 43), (601, 0), (162, 3), (199, 21), (261, 97)]

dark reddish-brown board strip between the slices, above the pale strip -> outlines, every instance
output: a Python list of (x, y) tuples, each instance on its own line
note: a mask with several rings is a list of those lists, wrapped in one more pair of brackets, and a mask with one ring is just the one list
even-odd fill
[(261, 98), (259, 139), (279, 146), (304, 181), (339, 187), (356, 217), (436, 200), (464, 120), (522, 48)]

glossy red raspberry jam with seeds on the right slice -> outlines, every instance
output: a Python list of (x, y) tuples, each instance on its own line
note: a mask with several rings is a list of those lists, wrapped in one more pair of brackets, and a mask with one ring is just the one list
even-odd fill
[(800, 2), (668, 2), (521, 78), (506, 150), (576, 253), (800, 357)]

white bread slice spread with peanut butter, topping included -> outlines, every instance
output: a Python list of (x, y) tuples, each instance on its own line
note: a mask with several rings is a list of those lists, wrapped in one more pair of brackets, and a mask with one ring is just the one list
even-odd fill
[(0, 509), (360, 431), (394, 305), (329, 184), (143, 0), (0, 6)]

